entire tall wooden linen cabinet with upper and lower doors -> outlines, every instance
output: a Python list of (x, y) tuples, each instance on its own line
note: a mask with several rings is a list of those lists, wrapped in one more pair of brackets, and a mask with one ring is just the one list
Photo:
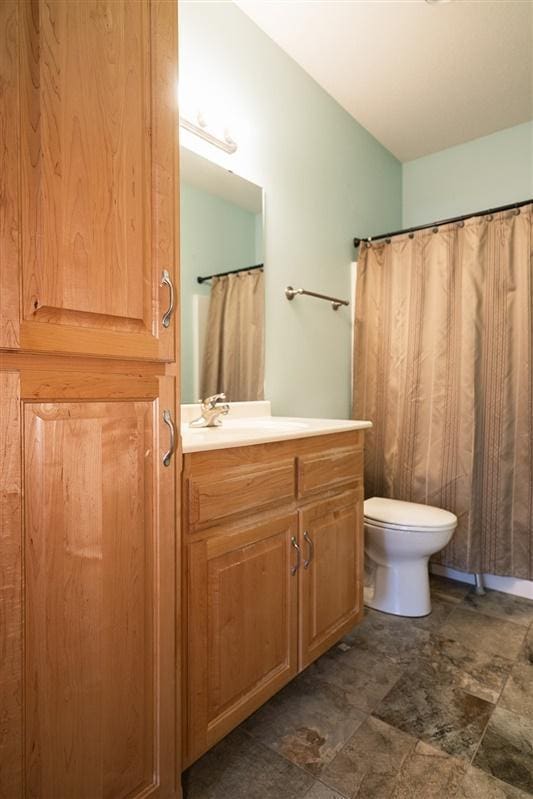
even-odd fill
[(181, 796), (176, 15), (0, 4), (6, 799)]

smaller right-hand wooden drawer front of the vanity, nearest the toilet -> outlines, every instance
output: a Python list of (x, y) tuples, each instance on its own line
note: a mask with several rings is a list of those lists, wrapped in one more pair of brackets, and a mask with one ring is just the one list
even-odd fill
[(336, 447), (297, 458), (298, 497), (362, 480), (362, 447)]

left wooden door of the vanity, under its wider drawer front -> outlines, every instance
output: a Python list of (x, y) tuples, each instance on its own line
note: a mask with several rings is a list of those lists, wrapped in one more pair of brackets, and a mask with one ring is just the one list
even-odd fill
[(187, 547), (185, 765), (297, 672), (297, 515)]

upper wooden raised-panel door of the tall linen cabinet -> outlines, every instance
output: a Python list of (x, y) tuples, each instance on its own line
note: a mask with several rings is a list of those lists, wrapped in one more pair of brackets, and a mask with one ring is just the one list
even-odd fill
[(176, 15), (2, 3), (0, 347), (174, 360)]

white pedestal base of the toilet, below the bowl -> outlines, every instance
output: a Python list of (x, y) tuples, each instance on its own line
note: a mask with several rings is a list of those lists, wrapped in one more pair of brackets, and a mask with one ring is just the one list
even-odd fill
[(372, 585), (365, 587), (364, 603), (373, 610), (417, 618), (431, 613), (429, 558), (373, 565)]

